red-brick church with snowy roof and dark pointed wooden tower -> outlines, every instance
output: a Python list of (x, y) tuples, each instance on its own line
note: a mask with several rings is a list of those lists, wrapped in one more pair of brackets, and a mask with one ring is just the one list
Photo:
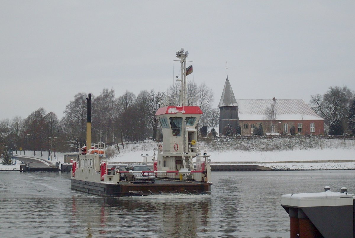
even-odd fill
[(227, 79), (224, 84), (219, 107), (219, 134), (231, 125), (241, 127), (241, 135), (252, 135), (253, 129), (263, 125), (270, 134), (290, 134), (294, 126), (296, 134), (323, 135), (324, 119), (315, 113), (302, 99), (235, 99)]

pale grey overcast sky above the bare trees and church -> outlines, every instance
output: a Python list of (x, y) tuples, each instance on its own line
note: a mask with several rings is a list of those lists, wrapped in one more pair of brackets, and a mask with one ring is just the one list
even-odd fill
[(0, 0), (0, 120), (43, 107), (59, 119), (78, 92), (164, 91), (189, 51), (215, 107), (355, 90), (355, 1)]

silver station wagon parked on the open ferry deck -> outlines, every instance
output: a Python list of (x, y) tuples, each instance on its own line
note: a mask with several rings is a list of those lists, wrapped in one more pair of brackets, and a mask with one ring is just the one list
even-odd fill
[(154, 173), (142, 172), (142, 171), (151, 171), (148, 166), (144, 164), (129, 164), (126, 166), (125, 171), (125, 181), (130, 182), (155, 182)]

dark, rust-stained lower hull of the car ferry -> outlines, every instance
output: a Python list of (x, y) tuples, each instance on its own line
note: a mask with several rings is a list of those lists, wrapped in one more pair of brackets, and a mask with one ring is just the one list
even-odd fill
[(71, 178), (71, 189), (109, 198), (159, 195), (165, 193), (211, 194), (211, 183), (156, 179), (154, 184), (144, 182), (120, 182), (119, 184), (109, 184), (105, 182), (88, 182)]

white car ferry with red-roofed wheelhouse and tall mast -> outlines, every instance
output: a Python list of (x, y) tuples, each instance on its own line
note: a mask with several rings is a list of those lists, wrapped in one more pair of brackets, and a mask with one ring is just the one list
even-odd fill
[[(162, 126), (163, 142), (157, 145), (157, 158), (152, 156), (152, 170), (135, 171), (144, 166), (132, 166), (127, 171), (108, 170), (104, 146), (91, 144), (91, 93), (87, 99), (87, 147), (81, 150), (71, 171), (71, 189), (104, 197), (159, 194), (211, 194), (211, 158), (201, 152), (196, 126), (203, 114), (194, 97), (187, 95), (187, 78), (192, 65), (186, 68), (189, 52), (176, 52), (181, 64), (179, 97), (168, 97), (155, 116)], [(145, 158), (145, 161), (144, 161)], [(147, 164), (143, 156), (142, 164)], [(120, 180), (124, 174), (124, 180)], [(152, 176), (153, 175), (153, 176)], [(147, 178), (142, 182), (137, 178)]]

